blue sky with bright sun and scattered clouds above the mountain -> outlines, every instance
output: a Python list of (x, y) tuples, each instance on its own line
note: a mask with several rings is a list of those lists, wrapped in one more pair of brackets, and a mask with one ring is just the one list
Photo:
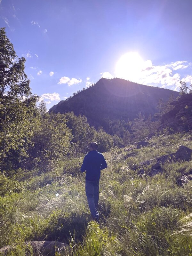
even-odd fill
[(51, 108), (101, 77), (192, 83), (191, 0), (0, 0), (0, 27)]

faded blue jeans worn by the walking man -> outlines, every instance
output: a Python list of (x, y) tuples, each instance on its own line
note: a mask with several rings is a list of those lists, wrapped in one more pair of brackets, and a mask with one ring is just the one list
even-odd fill
[(99, 220), (99, 212), (96, 209), (99, 201), (99, 180), (85, 180), (85, 192), (92, 218)]

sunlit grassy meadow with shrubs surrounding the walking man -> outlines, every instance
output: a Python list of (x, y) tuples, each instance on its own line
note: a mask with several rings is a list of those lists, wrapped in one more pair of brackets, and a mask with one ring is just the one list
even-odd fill
[(192, 149), (192, 135), (152, 141), (153, 147), (104, 153), (108, 168), (100, 179), (100, 224), (91, 220), (87, 204), (83, 155), (65, 156), (46, 172), (1, 173), (0, 247), (16, 244), (10, 255), (32, 255), (24, 241), (58, 240), (69, 246), (57, 256), (192, 256), (192, 181), (176, 182), (181, 172), (192, 170), (192, 159), (167, 163), (163, 175), (153, 177), (147, 175), (149, 168), (141, 176), (131, 169), (180, 145)]

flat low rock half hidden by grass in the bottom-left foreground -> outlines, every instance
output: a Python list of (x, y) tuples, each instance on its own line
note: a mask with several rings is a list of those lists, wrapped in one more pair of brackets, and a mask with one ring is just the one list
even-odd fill
[[(68, 244), (58, 241), (30, 241), (24, 242), (24, 245), (32, 247), (34, 255), (38, 254), (43, 256), (54, 256), (55, 252), (66, 252), (66, 248), (68, 247)], [(15, 245), (6, 246), (0, 248), (0, 253), (7, 255), (14, 249)]]

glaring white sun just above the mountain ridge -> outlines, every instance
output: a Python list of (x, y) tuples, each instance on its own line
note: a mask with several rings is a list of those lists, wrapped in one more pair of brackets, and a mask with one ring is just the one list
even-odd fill
[(115, 75), (132, 82), (138, 82), (143, 67), (144, 60), (138, 52), (127, 52), (117, 61)]

